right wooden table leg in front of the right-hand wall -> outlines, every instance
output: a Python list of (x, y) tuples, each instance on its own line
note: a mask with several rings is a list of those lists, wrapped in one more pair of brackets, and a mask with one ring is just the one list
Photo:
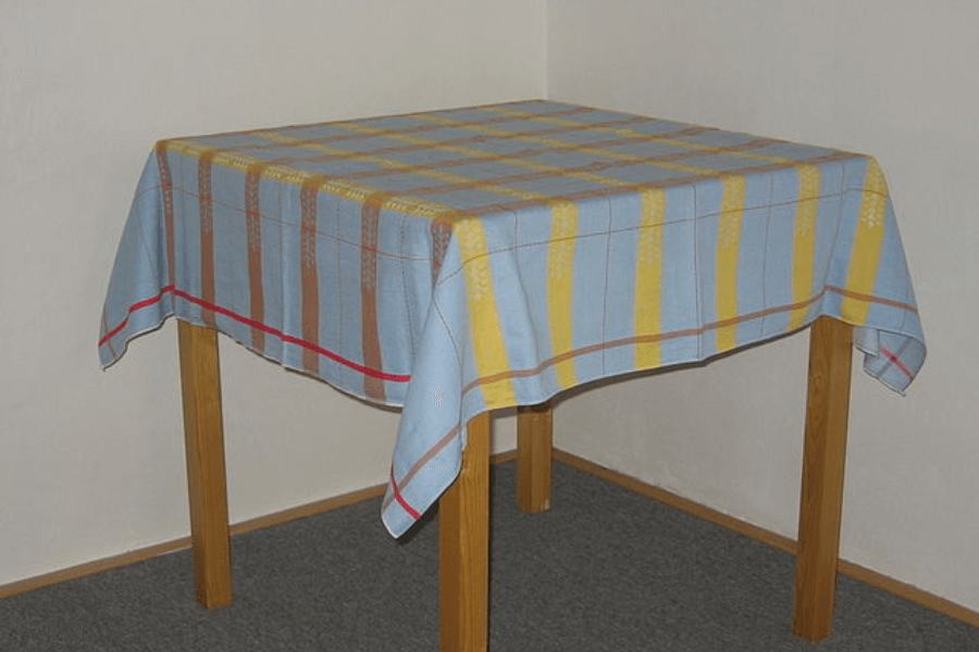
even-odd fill
[(809, 388), (792, 632), (814, 642), (833, 630), (852, 342), (853, 328), (830, 317), (817, 319), (809, 333)]

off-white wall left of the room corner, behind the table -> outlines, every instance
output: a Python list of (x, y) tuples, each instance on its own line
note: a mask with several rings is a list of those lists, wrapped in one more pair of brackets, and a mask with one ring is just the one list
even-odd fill
[[(0, 585), (188, 531), (173, 325), (96, 354), (157, 139), (543, 90), (543, 1), (2, 0)], [(233, 522), (384, 481), (397, 414), (222, 355)]]

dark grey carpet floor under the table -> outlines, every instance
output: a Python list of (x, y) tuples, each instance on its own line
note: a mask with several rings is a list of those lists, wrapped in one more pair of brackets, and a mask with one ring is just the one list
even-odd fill
[[(555, 464), (554, 507), (493, 472), (490, 649), (979, 651), (979, 629), (840, 577), (834, 632), (790, 634), (791, 555)], [(438, 522), (391, 539), (377, 501), (233, 539), (235, 602), (194, 600), (190, 554), (0, 600), (0, 650), (438, 649)]]

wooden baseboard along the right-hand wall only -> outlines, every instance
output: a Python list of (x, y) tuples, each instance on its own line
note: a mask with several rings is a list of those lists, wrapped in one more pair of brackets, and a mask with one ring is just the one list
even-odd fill
[[(788, 553), (795, 554), (796, 552), (795, 540), (788, 537), (777, 535), (765, 528), (757, 527), (728, 514), (711, 510), (710, 507), (704, 506), (681, 496), (677, 496), (676, 493), (671, 493), (665, 489), (660, 489), (659, 487), (654, 487), (653, 485), (648, 485), (625, 474), (595, 464), (584, 457), (579, 457), (578, 455), (558, 449), (554, 450), (553, 456), (558, 462), (562, 462), (568, 466), (573, 466), (574, 468), (590, 473), (604, 480), (608, 480), (609, 482), (619, 485), (620, 487), (624, 487), (625, 489), (635, 491), (636, 493), (646, 496), (664, 504), (693, 514), (704, 521), (723, 526), (732, 531), (751, 537), (752, 539), (756, 539)], [(979, 627), (979, 612), (956, 604), (944, 598), (940, 598), (933, 593), (929, 593), (928, 591), (909, 584), (899, 581), (892, 577), (860, 566), (859, 564), (854, 564), (853, 562), (840, 560), (838, 568), (843, 575), (920, 604), (921, 606), (928, 607), (940, 614), (962, 620), (972, 627)]]

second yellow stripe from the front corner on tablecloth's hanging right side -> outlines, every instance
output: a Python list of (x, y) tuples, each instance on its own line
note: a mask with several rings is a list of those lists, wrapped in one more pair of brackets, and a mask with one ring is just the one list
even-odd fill
[[(578, 235), (578, 206), (572, 202), (556, 202), (550, 206), (550, 250), (547, 255), (547, 316), (550, 322), (553, 355), (570, 352), (572, 291), (574, 286), (574, 242)], [(555, 365), (561, 388), (578, 385), (574, 359)]]

